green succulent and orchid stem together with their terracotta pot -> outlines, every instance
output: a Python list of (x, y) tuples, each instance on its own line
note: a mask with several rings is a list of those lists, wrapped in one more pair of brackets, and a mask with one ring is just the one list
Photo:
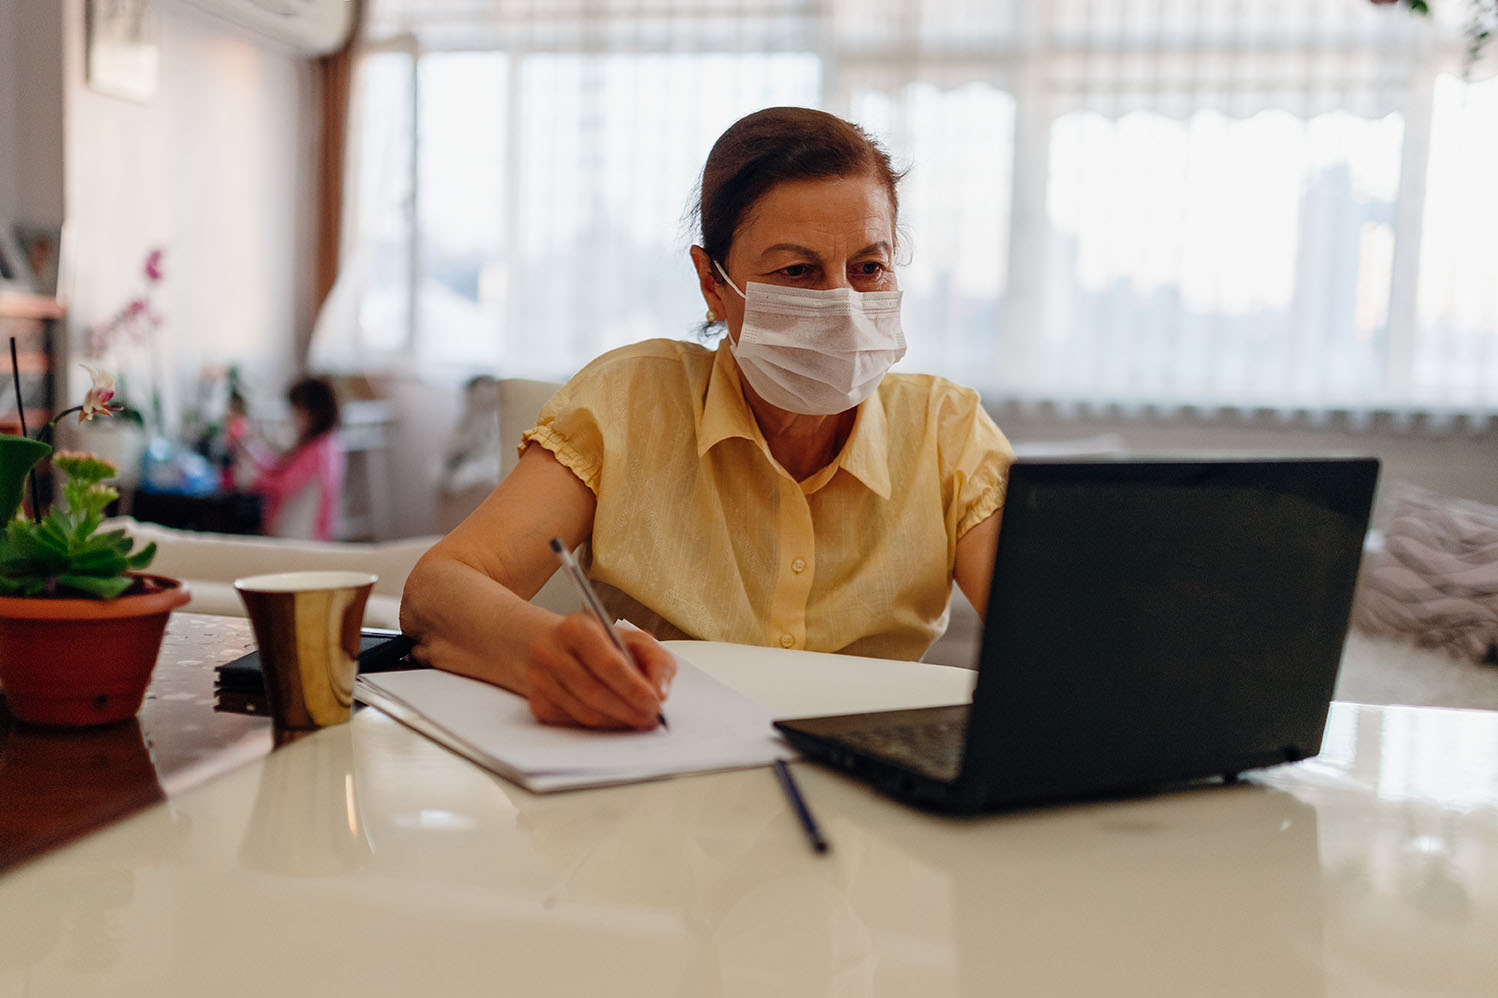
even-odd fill
[[(90, 375), (84, 403), (58, 418), (109, 415), (114, 381)], [(42, 514), (33, 478), (34, 515), (27, 515), (27, 477), (48, 456), (61, 502)], [(118, 498), (105, 483), (114, 474), (90, 454), (54, 454), (27, 435), (24, 418), (19, 435), (0, 433), (0, 689), (18, 721), (79, 727), (135, 716), (166, 619), (187, 602), (183, 583), (142, 571), (154, 544), (133, 551), (124, 530), (100, 532), (105, 506)]]

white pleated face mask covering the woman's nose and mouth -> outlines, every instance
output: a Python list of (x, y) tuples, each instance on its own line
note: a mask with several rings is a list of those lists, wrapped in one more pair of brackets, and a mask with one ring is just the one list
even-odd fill
[(739, 342), (730, 342), (745, 379), (786, 412), (834, 415), (873, 394), (905, 357), (899, 291), (782, 288), (749, 282)]

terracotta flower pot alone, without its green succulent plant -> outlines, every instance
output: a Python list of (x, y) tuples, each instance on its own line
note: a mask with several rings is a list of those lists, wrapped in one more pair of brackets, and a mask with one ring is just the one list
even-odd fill
[(27, 724), (84, 727), (133, 718), (187, 586), (141, 575), (154, 592), (115, 599), (0, 596), (0, 689)]

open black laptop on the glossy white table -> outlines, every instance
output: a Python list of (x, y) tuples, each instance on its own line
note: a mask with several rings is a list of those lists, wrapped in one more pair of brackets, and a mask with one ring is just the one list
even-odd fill
[(1017, 462), (972, 703), (777, 721), (909, 803), (1143, 793), (1321, 746), (1378, 462)]

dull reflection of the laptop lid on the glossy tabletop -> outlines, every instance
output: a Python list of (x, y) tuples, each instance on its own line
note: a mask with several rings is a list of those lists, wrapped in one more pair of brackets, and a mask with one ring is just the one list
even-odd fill
[(1017, 820), (1025, 860), (947, 863), (963, 994), (1001, 974), (1029, 982), (1016, 994), (1327, 994), (1317, 812), (1294, 796), (1245, 784)]

